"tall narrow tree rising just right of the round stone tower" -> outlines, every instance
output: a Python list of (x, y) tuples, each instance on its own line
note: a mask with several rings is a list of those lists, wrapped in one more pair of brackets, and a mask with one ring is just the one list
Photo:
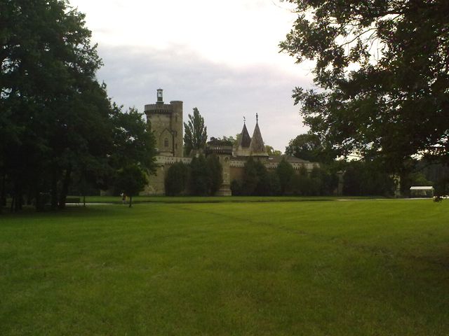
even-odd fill
[(208, 140), (204, 118), (194, 108), (193, 116), (189, 114), (189, 123), (184, 123), (184, 150), (187, 155), (194, 149), (204, 149)]

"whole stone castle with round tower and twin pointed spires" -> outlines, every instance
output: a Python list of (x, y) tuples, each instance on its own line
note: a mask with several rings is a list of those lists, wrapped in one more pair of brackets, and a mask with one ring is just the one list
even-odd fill
[[(183, 121), (182, 102), (173, 101), (170, 104), (163, 102), (163, 90), (157, 90), (156, 104), (145, 105), (147, 123), (151, 125), (154, 137), (156, 137), (156, 175), (149, 176), (149, 183), (141, 195), (165, 195), (165, 172), (175, 162), (183, 162), (189, 165), (192, 161), (190, 157), (183, 155)], [(282, 159), (290, 162), (296, 171), (305, 167), (311, 172), (314, 167), (319, 167), (316, 162), (301, 160), (293, 156), (282, 155), (270, 157), (265, 149), (262, 133), (260, 132), (259, 120), (256, 114), (256, 123), (253, 137), (250, 137), (246, 122), (243, 121), (241, 137), (236, 146), (213, 146), (206, 148), (206, 154), (215, 153), (222, 165), (223, 183), (217, 195), (231, 195), (231, 181), (241, 180), (245, 163), (248, 158), (253, 157), (260, 160), (267, 167), (267, 170), (276, 169)]]

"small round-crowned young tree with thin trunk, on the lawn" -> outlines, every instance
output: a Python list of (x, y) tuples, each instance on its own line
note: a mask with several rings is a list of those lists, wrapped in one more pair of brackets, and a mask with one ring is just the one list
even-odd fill
[(138, 195), (148, 183), (147, 176), (138, 165), (129, 165), (119, 169), (116, 175), (116, 187), (130, 197), (129, 207), (133, 204), (133, 196)]

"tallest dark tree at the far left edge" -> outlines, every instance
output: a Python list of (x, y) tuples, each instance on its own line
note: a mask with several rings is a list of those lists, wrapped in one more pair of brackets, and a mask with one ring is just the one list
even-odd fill
[(58, 182), (64, 190), (77, 156), (71, 144), (84, 148), (80, 134), (72, 137), (81, 120), (76, 105), (101, 60), (84, 15), (67, 1), (1, 1), (0, 22), (1, 169), (15, 209), (48, 184), (55, 206)]

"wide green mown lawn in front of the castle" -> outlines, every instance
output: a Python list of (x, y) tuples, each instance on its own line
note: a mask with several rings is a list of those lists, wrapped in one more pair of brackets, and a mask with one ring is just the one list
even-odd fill
[(1, 335), (449, 335), (449, 201), (0, 215)]

